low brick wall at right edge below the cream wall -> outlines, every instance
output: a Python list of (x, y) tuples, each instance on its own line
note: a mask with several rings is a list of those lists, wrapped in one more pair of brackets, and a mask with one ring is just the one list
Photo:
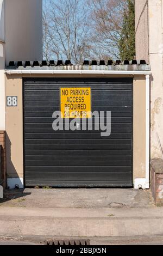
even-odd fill
[(151, 184), (154, 202), (157, 206), (163, 206), (163, 160), (151, 161)]

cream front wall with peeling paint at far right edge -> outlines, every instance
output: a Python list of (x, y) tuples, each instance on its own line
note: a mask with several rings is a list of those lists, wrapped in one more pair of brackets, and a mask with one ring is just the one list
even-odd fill
[(148, 1), (149, 60), (151, 64), (151, 158), (162, 158), (163, 147), (163, 45), (162, 0)]

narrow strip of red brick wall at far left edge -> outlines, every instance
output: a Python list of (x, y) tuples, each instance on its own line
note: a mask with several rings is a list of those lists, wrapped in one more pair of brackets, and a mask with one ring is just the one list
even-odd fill
[[(6, 155), (5, 155), (5, 131), (0, 131), (0, 145), (1, 147), (1, 172), (2, 177), (0, 179), (3, 179), (6, 181)], [(5, 182), (4, 182), (5, 184)]]

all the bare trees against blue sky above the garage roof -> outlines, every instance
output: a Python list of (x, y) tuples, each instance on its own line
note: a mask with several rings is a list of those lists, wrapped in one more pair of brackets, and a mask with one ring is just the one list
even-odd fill
[(47, 0), (43, 11), (46, 59), (119, 58), (118, 41), (127, 0)]

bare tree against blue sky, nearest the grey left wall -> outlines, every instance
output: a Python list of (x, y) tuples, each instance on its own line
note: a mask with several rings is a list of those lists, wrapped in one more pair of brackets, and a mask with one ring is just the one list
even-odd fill
[(45, 58), (71, 59), (79, 64), (90, 57), (85, 0), (49, 0), (43, 12)]

